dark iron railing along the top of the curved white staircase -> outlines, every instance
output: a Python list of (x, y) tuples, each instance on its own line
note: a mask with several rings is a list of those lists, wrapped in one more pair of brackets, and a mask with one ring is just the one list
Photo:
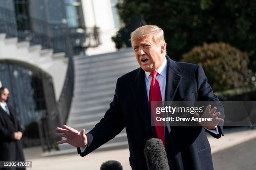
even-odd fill
[(74, 55), (84, 53), (87, 47), (97, 47), (100, 44), (98, 32), (97, 27), (70, 28), (64, 23), (52, 24), (32, 17), (16, 22), (14, 11), (0, 7), (0, 33), (18, 37), (18, 41), (29, 41), (31, 45), (41, 45), (42, 49), (66, 52), (67, 56), (70, 55), (67, 42), (71, 42)]

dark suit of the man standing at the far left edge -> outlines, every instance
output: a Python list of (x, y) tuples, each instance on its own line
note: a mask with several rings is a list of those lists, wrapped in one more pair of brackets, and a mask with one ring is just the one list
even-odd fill
[[(0, 161), (24, 161), (20, 140), (14, 139), (14, 133), (22, 128), (12, 107), (8, 105), (10, 116), (0, 107)], [(15, 168), (8, 168), (15, 170)]]

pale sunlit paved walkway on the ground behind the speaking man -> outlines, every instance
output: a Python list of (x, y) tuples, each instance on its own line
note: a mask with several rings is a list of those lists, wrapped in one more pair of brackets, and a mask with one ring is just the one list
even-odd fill
[[(221, 137), (220, 139), (215, 139), (215, 138), (212, 138), (211, 136), (208, 136), (208, 139), (212, 148), (213, 160), (218, 161), (218, 164), (221, 163), (220, 162), (221, 159), (217, 159), (220, 157), (220, 155), (222, 154), (224, 155), (224, 153), (225, 155), (233, 154), (232, 148), (237, 149), (235, 146), (246, 143), (246, 141), (256, 139), (256, 129), (248, 130), (245, 127), (233, 128), (230, 130), (225, 130), (224, 135), (225, 136)], [(252, 143), (250, 144), (253, 145)], [(76, 148), (74, 148), (74, 150), (75, 149)], [(230, 154), (228, 152), (225, 152), (224, 150), (227, 150), (228, 152), (230, 152)], [(244, 151), (247, 150), (246, 145), (243, 145), (243, 150)], [(250, 148), (248, 148), (248, 150), (250, 150)], [(38, 148), (38, 147), (25, 149), (24, 152), (25, 152), (26, 160), (32, 161), (32, 168), (28, 168), (28, 170), (30, 169), (31, 170), (46, 170), (46, 169), (49, 169), (49, 170), (69, 170), (69, 169), (100, 170), (101, 163), (107, 160), (118, 160), (123, 165), (124, 170), (131, 170), (129, 166), (129, 160), (128, 160), (129, 159), (128, 149), (93, 152), (93, 153), (90, 153), (90, 155), (87, 155), (86, 157), (83, 157), (83, 158), (77, 154), (61, 155), (61, 156), (55, 156), (55, 157), (42, 157), (41, 148)], [(220, 153), (220, 155), (218, 155), (218, 157), (215, 157), (215, 155), (218, 153)], [(253, 158), (253, 157), (250, 157), (250, 158)], [(248, 161), (251, 161), (251, 160), (248, 160)], [(225, 165), (226, 163), (227, 162), (223, 160), (221, 164)], [(233, 161), (233, 163), (236, 163), (236, 161), (235, 162)], [(241, 161), (238, 163), (241, 164)], [(243, 160), (243, 163), (244, 165), (246, 165), (246, 160)], [(215, 166), (217, 165), (215, 164)], [(223, 169), (223, 167), (225, 166), (220, 167), (221, 170), (225, 170)]]

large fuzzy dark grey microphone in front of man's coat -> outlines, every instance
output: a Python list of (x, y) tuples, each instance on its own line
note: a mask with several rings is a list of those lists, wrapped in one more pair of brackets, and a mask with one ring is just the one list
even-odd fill
[(170, 170), (164, 144), (160, 139), (151, 138), (144, 149), (148, 170)]

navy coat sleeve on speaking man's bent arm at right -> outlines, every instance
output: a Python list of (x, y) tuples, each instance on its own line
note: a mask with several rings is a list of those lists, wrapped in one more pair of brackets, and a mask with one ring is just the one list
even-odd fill
[[(205, 72), (204, 72), (203, 68), (200, 65), (197, 67), (196, 79), (197, 79), (197, 94), (198, 94), (197, 100), (198, 101), (208, 101), (209, 104), (211, 104), (213, 107), (217, 108), (216, 112), (221, 113), (221, 115), (219, 117), (224, 119), (225, 115), (224, 115), (223, 105), (219, 101), (218, 96), (216, 96), (213, 93), (212, 87), (207, 82), (207, 77), (205, 76)], [(212, 135), (214, 138), (220, 138), (221, 135), (224, 136), (224, 134), (223, 134), (223, 124), (224, 124), (224, 122), (221, 122), (221, 123), (218, 124), (218, 127), (217, 127), (218, 131), (219, 131), (218, 135), (216, 135), (214, 133), (211, 133), (208, 130), (207, 130), (207, 132), (210, 135)]]

